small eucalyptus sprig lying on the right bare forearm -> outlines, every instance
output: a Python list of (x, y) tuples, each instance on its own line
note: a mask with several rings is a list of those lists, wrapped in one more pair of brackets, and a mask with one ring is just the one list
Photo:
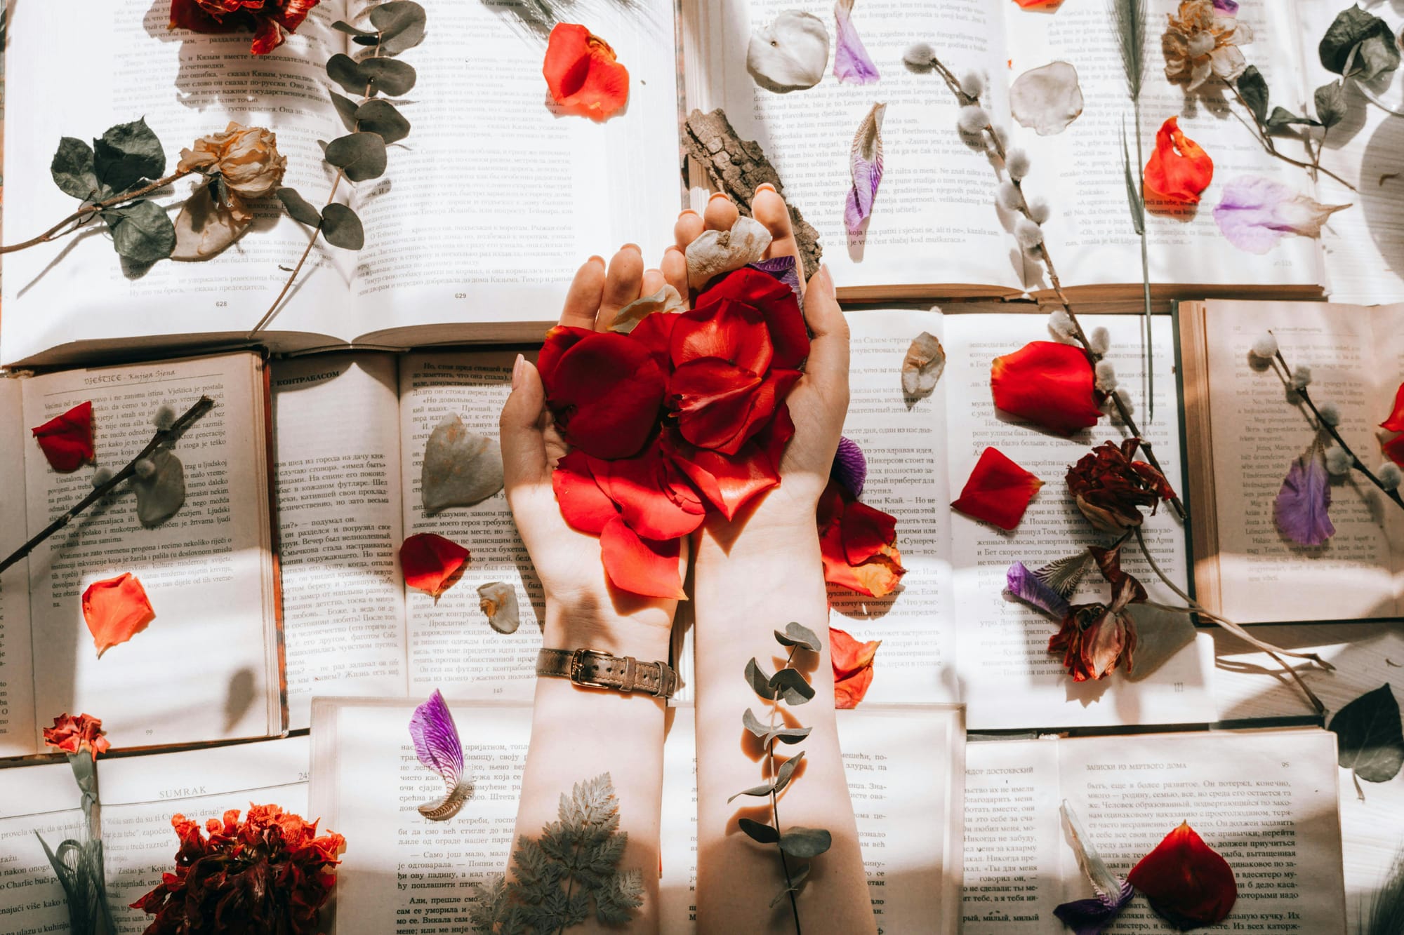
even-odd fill
[(833, 837), (824, 828), (806, 828), (802, 825), (790, 825), (781, 830), (781, 814), (779, 814), (779, 793), (790, 783), (795, 776), (795, 771), (804, 761), (804, 751), (786, 758), (783, 762), (776, 764), (775, 761), (775, 744), (797, 744), (799, 741), (809, 737), (812, 727), (790, 727), (783, 723), (781, 717), (781, 705), (803, 705), (814, 696), (814, 687), (809, 684), (804, 674), (792, 665), (795, 660), (796, 650), (807, 650), (810, 653), (819, 653), (823, 650), (823, 644), (819, 642), (819, 636), (814, 635), (807, 626), (800, 626), (799, 623), (790, 622), (786, 625), (785, 632), (775, 630), (775, 642), (788, 650), (785, 657), (785, 665), (776, 671), (774, 675), (767, 675), (760, 663), (751, 658), (746, 664), (746, 681), (750, 684), (751, 689), (760, 695), (764, 701), (771, 703), (771, 719), (769, 723), (762, 722), (757, 717), (750, 708), (741, 715), (741, 724), (754, 737), (757, 737), (761, 744), (765, 745), (765, 782), (758, 786), (751, 786), (737, 792), (734, 796), (727, 799), (731, 802), (740, 796), (757, 796), (768, 797), (771, 800), (771, 824), (755, 821), (754, 818), (737, 818), (737, 824), (741, 831), (746, 833), (748, 838), (758, 844), (774, 844), (776, 847), (776, 854), (781, 858), (781, 870), (785, 873), (785, 889), (775, 894), (771, 900), (769, 908), (775, 908), (781, 900), (789, 898), (790, 914), (795, 917), (795, 932), (799, 935), (799, 901), (797, 897), (804, 891), (804, 886), (809, 882), (810, 863), (797, 863), (790, 868), (789, 858), (796, 861), (810, 861), (830, 848), (833, 844)]

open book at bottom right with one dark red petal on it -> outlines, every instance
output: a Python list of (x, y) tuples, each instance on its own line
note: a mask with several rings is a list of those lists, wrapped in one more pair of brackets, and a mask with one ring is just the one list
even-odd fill
[[(965, 935), (1061, 931), (1091, 898), (1067, 802), (1125, 879), (1181, 821), (1233, 868), (1238, 900), (1203, 931), (1345, 935), (1335, 736), (1324, 730), (1126, 734), (973, 743), (966, 750)], [(1111, 932), (1174, 932), (1137, 896)]]

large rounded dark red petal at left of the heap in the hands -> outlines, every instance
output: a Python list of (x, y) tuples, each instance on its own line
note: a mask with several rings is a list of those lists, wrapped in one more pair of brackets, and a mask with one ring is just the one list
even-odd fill
[(628, 334), (591, 331), (546, 364), (546, 400), (571, 446), (609, 459), (643, 448), (657, 428), (664, 387), (647, 347)]

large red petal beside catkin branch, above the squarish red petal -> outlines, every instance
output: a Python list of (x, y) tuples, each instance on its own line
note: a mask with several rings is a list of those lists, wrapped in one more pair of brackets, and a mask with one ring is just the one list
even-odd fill
[(1102, 417), (1094, 382), (1087, 355), (1056, 341), (1032, 341), (990, 365), (995, 409), (1060, 435), (1090, 428)]

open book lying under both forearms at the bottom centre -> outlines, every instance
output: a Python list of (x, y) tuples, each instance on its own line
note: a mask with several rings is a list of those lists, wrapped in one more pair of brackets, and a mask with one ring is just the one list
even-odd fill
[[(453, 818), (430, 821), (414, 803), (441, 795), (444, 781), (414, 757), (409, 723), (416, 703), (345, 698), (313, 703), (309, 807), (347, 837), (331, 935), (427, 932), (431, 922), (463, 931), (477, 887), (507, 868), (531, 706), (449, 702), (475, 776), (473, 793)], [(658, 887), (660, 925), (670, 935), (696, 931), (692, 709), (677, 708), (671, 717)], [(865, 705), (838, 712), (838, 737), (879, 931), (955, 935), (965, 769), (960, 709)]]

